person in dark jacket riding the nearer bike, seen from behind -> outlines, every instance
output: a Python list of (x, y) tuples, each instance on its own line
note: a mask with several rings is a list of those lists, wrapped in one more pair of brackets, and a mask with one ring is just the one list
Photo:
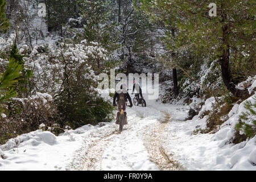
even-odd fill
[[(119, 124), (119, 115), (121, 112), (121, 109), (123, 108), (124, 114), (125, 114), (125, 125), (127, 125), (127, 113), (126, 113), (126, 103), (127, 99), (130, 102), (129, 107), (133, 107), (133, 102), (131, 102), (131, 97), (129, 93), (127, 92), (127, 86), (125, 84), (121, 85), (121, 90), (118, 90), (114, 94), (114, 99), (113, 99), (113, 106), (118, 106), (118, 113), (117, 113), (117, 121), (115, 122), (116, 124)], [(115, 103), (115, 100), (117, 100), (117, 104)]]

